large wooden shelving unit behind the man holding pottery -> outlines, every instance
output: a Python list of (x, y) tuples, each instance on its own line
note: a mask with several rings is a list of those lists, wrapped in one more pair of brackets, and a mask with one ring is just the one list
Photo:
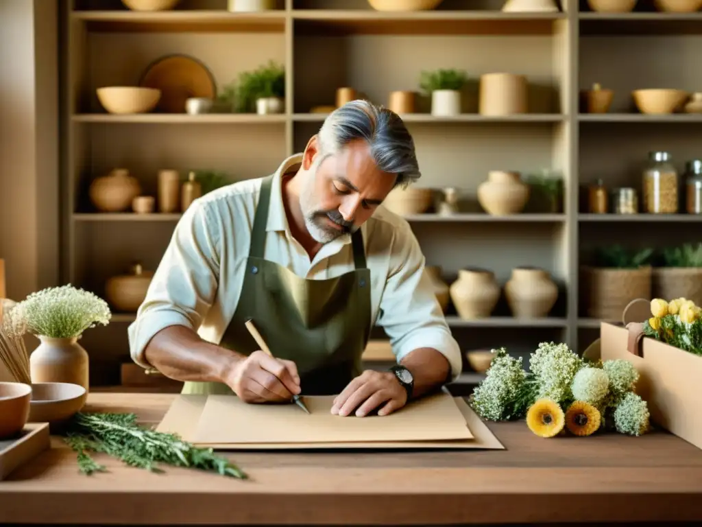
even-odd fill
[[(304, 148), (339, 86), (354, 86), (376, 103), (390, 91), (418, 89), (422, 70), (456, 67), (475, 79), (484, 72), (527, 75), (530, 113), (484, 117), (477, 98), (465, 113), (437, 118), (403, 115), (415, 138), (420, 186), (459, 188), (472, 197), (491, 169), (564, 177), (564, 213), (494, 217), (475, 203), (453, 217), (408, 217), (428, 265), (451, 282), (459, 269), (493, 270), (502, 284), (515, 266), (546, 268), (562, 291), (549, 318), (511, 318), (504, 305), (486, 320), (447, 320), (463, 349), (507, 346), (533, 351), (540, 341), (567, 341), (584, 349), (599, 321), (578, 311), (578, 268), (594, 247), (632, 247), (696, 241), (702, 218), (593, 216), (580, 208), (581, 187), (604, 178), (609, 186), (640, 185), (649, 150), (668, 150), (682, 171), (702, 157), (700, 115), (640, 115), (629, 93), (642, 87), (702, 91), (702, 13), (655, 13), (645, 0), (622, 15), (590, 13), (565, 0), (561, 13), (502, 13), (503, 0), (444, 0), (435, 11), (380, 13), (365, 0), (279, 0), (263, 13), (230, 13), (226, 0), (182, 0), (177, 11), (126, 11), (119, 0), (63, 0), (62, 252), (65, 282), (102, 294), (105, 280), (131, 261), (158, 265), (179, 214), (95, 214), (86, 198), (92, 178), (126, 167), (154, 195), (159, 169), (215, 169), (232, 181), (270, 174), (284, 157)], [(470, 3), (471, 5), (473, 2)], [(134, 85), (155, 58), (186, 53), (212, 72), (218, 88), (239, 72), (268, 60), (286, 69), (283, 115), (107, 115), (99, 86)], [(615, 91), (611, 113), (578, 113), (578, 91), (600, 82)], [(682, 224), (679, 226), (679, 224)], [(680, 228), (682, 227), (682, 228)], [(116, 313), (106, 328), (86, 332), (93, 379), (115, 384), (128, 358), (126, 327), (132, 314)], [(468, 370), (467, 370), (468, 371)]]

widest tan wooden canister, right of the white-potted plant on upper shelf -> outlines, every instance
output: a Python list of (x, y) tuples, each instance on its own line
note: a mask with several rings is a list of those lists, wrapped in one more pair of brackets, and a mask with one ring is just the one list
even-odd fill
[(514, 115), (527, 113), (527, 77), (512, 73), (486, 73), (480, 76), (479, 113)]

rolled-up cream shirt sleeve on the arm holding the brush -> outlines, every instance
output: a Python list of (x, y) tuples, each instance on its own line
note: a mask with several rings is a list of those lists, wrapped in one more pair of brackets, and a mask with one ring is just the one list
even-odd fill
[(142, 367), (151, 367), (144, 350), (155, 334), (172, 325), (197, 331), (212, 306), (221, 236), (209, 206), (195, 200), (178, 221), (136, 320), (128, 328), (131, 358)]

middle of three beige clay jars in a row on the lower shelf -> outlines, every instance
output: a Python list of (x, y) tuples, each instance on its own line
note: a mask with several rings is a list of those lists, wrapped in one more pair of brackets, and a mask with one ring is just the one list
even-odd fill
[(486, 318), (500, 299), (500, 286), (491, 271), (466, 268), (458, 271), (458, 280), (449, 287), (449, 294), (463, 320)]

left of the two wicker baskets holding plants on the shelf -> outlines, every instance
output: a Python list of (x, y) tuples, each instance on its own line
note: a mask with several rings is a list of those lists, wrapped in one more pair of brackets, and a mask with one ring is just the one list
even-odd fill
[(651, 299), (651, 267), (581, 268), (583, 311), (598, 320), (621, 320), (624, 308), (638, 298)]

